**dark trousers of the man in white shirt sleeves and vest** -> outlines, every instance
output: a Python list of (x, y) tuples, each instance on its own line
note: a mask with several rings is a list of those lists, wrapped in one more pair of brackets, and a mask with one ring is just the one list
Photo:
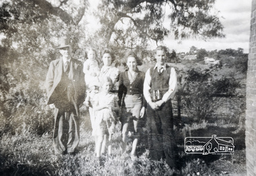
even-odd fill
[(147, 105), (148, 146), (150, 159), (175, 167), (172, 103), (167, 101), (158, 110)]

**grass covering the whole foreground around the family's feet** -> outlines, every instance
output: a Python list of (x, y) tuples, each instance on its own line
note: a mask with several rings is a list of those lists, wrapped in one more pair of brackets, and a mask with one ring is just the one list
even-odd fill
[[(201, 127), (204, 127), (203, 124)], [(113, 157), (100, 167), (94, 157), (94, 140), (90, 128), (82, 124), (76, 155), (54, 155), (52, 135), (38, 136), (24, 130), (22, 134), (3, 134), (0, 142), (0, 175), (243, 175), (245, 149), (234, 155), (186, 155), (179, 150), (180, 169), (173, 171), (164, 161), (148, 159), (148, 150), (139, 144), (139, 157), (131, 161), (121, 152), (121, 133), (117, 130)], [(182, 145), (181, 145), (182, 146)], [(131, 146), (129, 146), (131, 150)], [(209, 160), (210, 159), (210, 160)]]

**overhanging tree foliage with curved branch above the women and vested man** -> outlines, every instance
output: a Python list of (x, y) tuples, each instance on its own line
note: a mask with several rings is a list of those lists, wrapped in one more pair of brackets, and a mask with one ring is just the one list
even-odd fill
[(158, 44), (168, 35), (176, 39), (223, 37), (218, 16), (210, 13), (213, 5), (214, 0), (102, 1), (97, 13), (102, 25), (99, 34), (106, 44), (118, 41), (128, 48), (148, 40)]

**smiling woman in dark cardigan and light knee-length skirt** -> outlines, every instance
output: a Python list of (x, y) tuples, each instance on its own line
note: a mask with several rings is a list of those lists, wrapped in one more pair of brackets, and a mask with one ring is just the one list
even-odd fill
[(145, 73), (137, 69), (137, 65), (141, 65), (142, 62), (133, 52), (129, 52), (125, 59), (127, 70), (119, 77), (123, 152), (126, 150), (128, 134), (131, 134), (130, 137), (133, 140), (131, 159), (136, 159), (135, 150), (139, 137), (138, 122), (144, 116), (146, 105), (146, 101), (143, 101)]

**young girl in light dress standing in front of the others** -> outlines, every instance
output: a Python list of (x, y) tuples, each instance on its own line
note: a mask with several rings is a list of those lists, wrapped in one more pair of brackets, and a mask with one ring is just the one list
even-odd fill
[(110, 93), (113, 82), (109, 77), (102, 80), (102, 89), (96, 99), (95, 112), (95, 136), (96, 136), (96, 157), (100, 162), (100, 156), (106, 152), (112, 155), (112, 135), (115, 128), (116, 114), (119, 110), (117, 96)]

